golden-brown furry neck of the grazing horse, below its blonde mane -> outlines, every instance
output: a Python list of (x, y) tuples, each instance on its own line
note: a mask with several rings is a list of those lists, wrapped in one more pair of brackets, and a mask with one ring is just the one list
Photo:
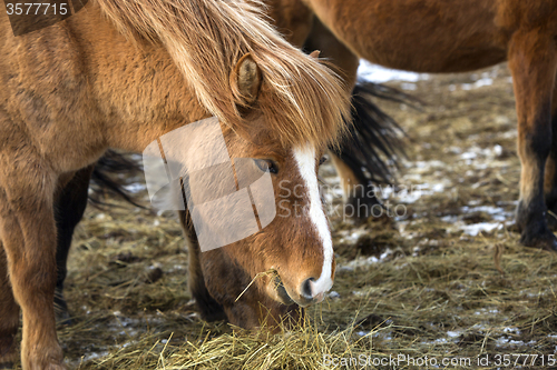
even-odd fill
[(107, 146), (143, 151), (162, 134), (209, 116), (160, 44), (128, 40), (98, 7), (70, 21)]

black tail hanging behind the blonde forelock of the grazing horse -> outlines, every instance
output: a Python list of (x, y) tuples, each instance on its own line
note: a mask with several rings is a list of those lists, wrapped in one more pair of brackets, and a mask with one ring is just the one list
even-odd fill
[[(351, 134), (343, 143), (340, 159), (350, 167), (362, 184), (392, 183), (393, 169), (404, 157), (399, 124), (373, 102), (379, 98), (409, 104), (419, 100), (397, 89), (379, 83), (359, 81), (352, 91)], [(368, 172), (368, 173), (365, 173)]]

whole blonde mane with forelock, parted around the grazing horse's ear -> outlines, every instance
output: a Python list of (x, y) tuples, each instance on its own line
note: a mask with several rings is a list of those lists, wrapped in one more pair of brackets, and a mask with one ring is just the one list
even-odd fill
[(324, 64), (287, 43), (262, 13), (260, 0), (96, 0), (129, 38), (162, 42), (201, 103), (242, 128), (231, 84), (242, 56), (262, 70), (258, 108), (283, 144), (336, 143), (349, 116), (349, 96)]

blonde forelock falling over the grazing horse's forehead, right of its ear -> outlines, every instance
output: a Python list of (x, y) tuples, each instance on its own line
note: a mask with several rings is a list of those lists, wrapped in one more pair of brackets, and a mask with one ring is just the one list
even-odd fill
[[(336, 144), (346, 130), (348, 94), (324, 64), (297, 50), (254, 54), (264, 82), (258, 107), (285, 146)], [(263, 57), (261, 57), (263, 56)]]

